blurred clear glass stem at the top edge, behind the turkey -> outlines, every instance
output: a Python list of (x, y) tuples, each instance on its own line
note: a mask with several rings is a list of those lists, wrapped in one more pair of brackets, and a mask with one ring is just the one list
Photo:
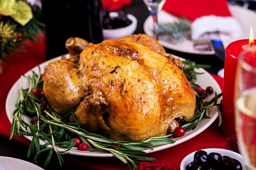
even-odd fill
[(157, 13), (158, 11), (161, 11), (164, 2), (166, 0), (143, 0), (146, 6), (148, 7), (148, 10), (150, 11), (150, 14), (153, 17), (153, 33), (155, 39), (158, 40), (159, 31), (158, 31), (158, 21), (157, 21)]

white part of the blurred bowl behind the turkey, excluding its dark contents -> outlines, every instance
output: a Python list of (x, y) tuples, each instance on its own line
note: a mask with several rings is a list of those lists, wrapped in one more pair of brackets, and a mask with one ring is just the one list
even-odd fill
[[(110, 12), (110, 17), (117, 17), (117, 12)], [(137, 19), (131, 14), (127, 14), (127, 17), (131, 20), (131, 24), (120, 29), (103, 29), (103, 40), (113, 40), (115, 38), (121, 38), (126, 35), (132, 35), (137, 28)]]

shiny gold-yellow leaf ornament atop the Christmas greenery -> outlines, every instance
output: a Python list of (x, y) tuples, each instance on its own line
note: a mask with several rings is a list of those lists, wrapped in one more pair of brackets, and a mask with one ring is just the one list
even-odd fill
[(22, 26), (33, 18), (31, 7), (21, 0), (0, 0), (0, 15), (10, 16)]

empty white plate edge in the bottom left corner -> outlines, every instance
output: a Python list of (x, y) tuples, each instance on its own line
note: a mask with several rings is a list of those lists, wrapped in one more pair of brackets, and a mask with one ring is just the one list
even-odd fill
[(43, 170), (43, 168), (21, 159), (0, 157), (0, 170)]

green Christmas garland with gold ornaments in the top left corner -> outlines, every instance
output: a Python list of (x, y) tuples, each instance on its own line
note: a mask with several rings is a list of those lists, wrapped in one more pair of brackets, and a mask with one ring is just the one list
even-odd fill
[(0, 74), (2, 64), (27, 41), (38, 40), (44, 24), (38, 21), (41, 11), (23, 0), (0, 0)]

